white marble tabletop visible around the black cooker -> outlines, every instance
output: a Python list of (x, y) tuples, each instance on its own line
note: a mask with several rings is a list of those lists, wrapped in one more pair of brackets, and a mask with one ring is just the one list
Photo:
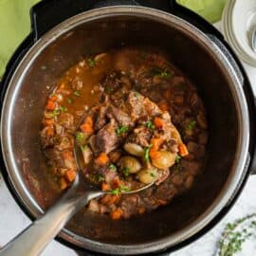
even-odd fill
[[(245, 64), (247, 74), (253, 85), (253, 90), (256, 95), (256, 68)], [(256, 175), (249, 177), (246, 188), (242, 192), (235, 206), (229, 211), (229, 214), (209, 233), (192, 243), (188, 247), (184, 247), (176, 252), (174, 256), (214, 256), (221, 232), (225, 225), (230, 221), (243, 217), (249, 213), (256, 212)], [(11, 197), (3, 178), (0, 176), (0, 246), (5, 245), (9, 240), (25, 229), (30, 223), (27, 216), (17, 206), (14, 199)], [(243, 252), (238, 256), (255, 255), (256, 244), (255, 237), (247, 242)], [(76, 253), (58, 242), (52, 241), (46, 250), (42, 253), (43, 256), (75, 256)], [(14, 255), (13, 255), (14, 256)], [(16, 255), (15, 255), (16, 256)], [(17, 255), (18, 256), (18, 255)], [(28, 256), (28, 255), (27, 255)]]

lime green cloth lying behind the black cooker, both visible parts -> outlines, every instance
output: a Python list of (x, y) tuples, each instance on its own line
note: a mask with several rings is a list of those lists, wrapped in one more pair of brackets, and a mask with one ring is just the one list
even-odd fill
[[(39, 0), (0, 0), (0, 77), (9, 57), (29, 32), (29, 9), (37, 2)], [(177, 0), (177, 3), (194, 10), (210, 22), (220, 19), (225, 2), (226, 0)]]

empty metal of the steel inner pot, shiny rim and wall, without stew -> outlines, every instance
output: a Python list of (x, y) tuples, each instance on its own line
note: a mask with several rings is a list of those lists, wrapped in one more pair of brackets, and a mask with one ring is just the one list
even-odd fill
[(249, 120), (243, 81), (228, 55), (174, 15), (132, 6), (94, 9), (54, 27), (30, 48), (9, 82), (3, 105), (1, 142), (9, 179), (37, 217), (60, 196), (46, 175), (39, 144), (46, 97), (56, 80), (88, 53), (141, 45), (168, 53), (196, 84), (210, 123), (207, 162), (192, 191), (169, 206), (120, 221), (83, 209), (60, 233), (73, 245), (106, 254), (174, 247), (229, 205), (247, 170)]

